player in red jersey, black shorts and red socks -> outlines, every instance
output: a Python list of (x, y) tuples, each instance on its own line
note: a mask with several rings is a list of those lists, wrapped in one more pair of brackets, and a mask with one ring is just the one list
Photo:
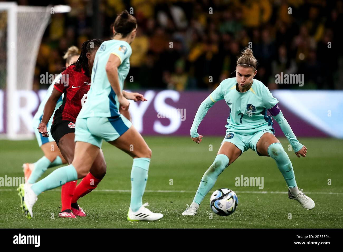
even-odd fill
[[(51, 125), (51, 136), (56, 141), (62, 156), (69, 164), (74, 158), (75, 149), (75, 121), (76, 117), (87, 99), (87, 92), (91, 87), (91, 74), (94, 56), (101, 39), (87, 40), (83, 43), (79, 59), (65, 69), (60, 79), (55, 83), (54, 89), (44, 107), (42, 121), (38, 126), (43, 137), (49, 137), (47, 123), (54, 113), (57, 101), (64, 93), (63, 103), (56, 110)], [(62, 209), (59, 217), (76, 218), (86, 216), (79, 207), (77, 200), (95, 189), (106, 173), (106, 163), (102, 151), (96, 157), (90, 173), (76, 187), (76, 180), (62, 186)]]

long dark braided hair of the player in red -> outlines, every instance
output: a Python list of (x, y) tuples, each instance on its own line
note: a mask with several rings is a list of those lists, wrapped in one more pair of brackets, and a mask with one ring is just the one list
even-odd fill
[(90, 39), (87, 41), (84, 41), (81, 47), (81, 53), (79, 59), (73, 63), (72, 65), (75, 65), (75, 71), (81, 71), (81, 68), (85, 71), (86, 76), (90, 76), (89, 69), (88, 69), (88, 59), (87, 59), (87, 52), (92, 53), (92, 51), (99, 48), (99, 46), (104, 41), (101, 39)]

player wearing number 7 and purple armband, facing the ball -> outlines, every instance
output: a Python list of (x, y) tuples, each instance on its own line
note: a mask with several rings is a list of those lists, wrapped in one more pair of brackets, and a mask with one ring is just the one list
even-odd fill
[(257, 73), (256, 67), (257, 60), (252, 50), (246, 48), (237, 60), (236, 77), (223, 80), (200, 105), (191, 127), (191, 138), (198, 144), (202, 141), (198, 126), (218, 100), (225, 99), (230, 115), (225, 126), (226, 135), (217, 156), (204, 173), (192, 204), (182, 215), (196, 215), (200, 203), (212, 189), (220, 173), (249, 148), (260, 156), (275, 160), (288, 186), (289, 199), (298, 201), (306, 209), (315, 207), (314, 201), (297, 187), (291, 160), (274, 136), (273, 121), (267, 116), (267, 110), (279, 123), (298, 157), (306, 156), (306, 147), (296, 139), (277, 104), (279, 101), (262, 82), (253, 79)]

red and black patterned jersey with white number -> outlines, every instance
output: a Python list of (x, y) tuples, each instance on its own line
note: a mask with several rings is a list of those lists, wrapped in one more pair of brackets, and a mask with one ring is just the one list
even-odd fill
[(62, 120), (75, 122), (87, 99), (91, 78), (84, 74), (82, 68), (81, 72), (75, 71), (74, 68), (75, 65), (70, 65), (62, 72), (60, 80), (54, 84), (54, 88), (64, 93), (64, 97), (63, 104), (56, 110), (52, 123)]

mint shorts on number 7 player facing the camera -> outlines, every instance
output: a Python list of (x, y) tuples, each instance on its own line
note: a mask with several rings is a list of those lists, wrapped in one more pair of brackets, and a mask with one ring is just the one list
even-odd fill
[(273, 132), (269, 129), (264, 129), (247, 136), (235, 132), (226, 131), (226, 135), (222, 143), (233, 143), (234, 145), (236, 145), (237, 148), (241, 150), (242, 153), (247, 151), (248, 149), (252, 149), (253, 151), (256, 151), (259, 156), (261, 156), (256, 150), (256, 145), (261, 136), (267, 132), (273, 134)]

